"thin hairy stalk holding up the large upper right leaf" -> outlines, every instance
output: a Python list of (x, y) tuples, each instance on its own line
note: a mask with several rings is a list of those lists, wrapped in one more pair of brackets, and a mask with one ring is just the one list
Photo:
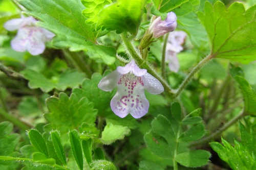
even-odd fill
[(208, 55), (207, 57), (205, 57), (200, 63), (198, 63), (198, 65), (196, 67), (193, 68), (193, 70), (191, 72), (189, 72), (188, 76), (186, 77), (186, 79), (181, 83), (181, 85), (179, 86), (179, 88), (176, 90), (175, 96), (177, 97), (181, 91), (186, 87), (186, 85), (188, 84), (188, 82), (193, 78), (193, 76), (196, 74), (196, 72), (204, 65), (206, 64), (210, 59), (214, 58), (215, 55)]

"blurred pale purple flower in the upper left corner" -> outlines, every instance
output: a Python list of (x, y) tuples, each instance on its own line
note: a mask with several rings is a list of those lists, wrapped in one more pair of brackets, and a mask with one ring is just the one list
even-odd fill
[(32, 55), (42, 54), (45, 51), (45, 42), (50, 41), (55, 35), (44, 29), (35, 26), (37, 20), (30, 17), (11, 19), (4, 25), (6, 30), (18, 30), (16, 37), (12, 39), (11, 46), (17, 52), (26, 50)]

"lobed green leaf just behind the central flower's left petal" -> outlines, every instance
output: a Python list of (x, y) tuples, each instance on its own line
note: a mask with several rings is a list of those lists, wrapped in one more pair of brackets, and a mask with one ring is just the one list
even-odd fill
[(85, 96), (89, 101), (94, 103), (94, 107), (98, 109), (99, 115), (105, 115), (106, 109), (110, 107), (111, 96), (113, 92), (106, 92), (98, 88), (98, 84), (102, 76), (98, 73), (92, 75), (90, 79), (84, 79), (82, 88), (73, 89), (73, 93), (82, 98)]

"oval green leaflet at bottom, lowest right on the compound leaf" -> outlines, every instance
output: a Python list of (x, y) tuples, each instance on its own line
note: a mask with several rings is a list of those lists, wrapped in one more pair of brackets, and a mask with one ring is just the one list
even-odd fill
[(180, 153), (175, 157), (175, 160), (186, 167), (199, 167), (208, 164), (209, 158), (209, 152), (196, 150)]

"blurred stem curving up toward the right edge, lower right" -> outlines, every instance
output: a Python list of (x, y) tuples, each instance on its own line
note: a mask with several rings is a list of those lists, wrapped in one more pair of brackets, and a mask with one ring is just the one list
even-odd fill
[(209, 136), (198, 140), (196, 142), (193, 142), (190, 144), (190, 147), (194, 147), (196, 145), (200, 145), (203, 143), (206, 143), (208, 141), (210, 141), (211, 139), (216, 138), (217, 136), (219, 136), (222, 132), (224, 132), (226, 129), (228, 129), (230, 126), (232, 126), (233, 124), (235, 124), (240, 118), (243, 118), (244, 116), (246, 116), (246, 112), (244, 110), (242, 110), (236, 117), (232, 118), (228, 123), (226, 123), (223, 127), (221, 127), (220, 129), (218, 129), (217, 131), (215, 131), (214, 133), (210, 134)]

